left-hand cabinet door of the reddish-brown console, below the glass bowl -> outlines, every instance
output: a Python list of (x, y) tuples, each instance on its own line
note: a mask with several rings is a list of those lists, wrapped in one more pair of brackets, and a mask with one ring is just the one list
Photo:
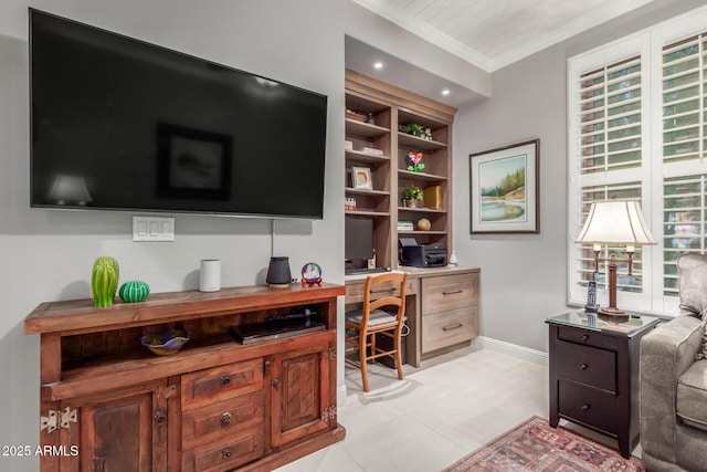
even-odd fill
[(159, 381), (119, 394), (65, 401), (63, 407), (78, 410), (75, 433), (80, 463), (63, 470), (166, 471), (170, 391), (166, 387), (167, 381)]

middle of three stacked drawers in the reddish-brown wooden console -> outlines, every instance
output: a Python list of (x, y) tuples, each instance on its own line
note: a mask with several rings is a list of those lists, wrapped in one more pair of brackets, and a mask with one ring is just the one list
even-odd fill
[(183, 449), (219, 441), (263, 422), (263, 391), (187, 410), (182, 415)]

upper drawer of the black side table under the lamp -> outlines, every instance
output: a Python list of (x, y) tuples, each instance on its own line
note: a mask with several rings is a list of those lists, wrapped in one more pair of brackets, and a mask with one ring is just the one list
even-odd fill
[(558, 378), (616, 391), (616, 353), (563, 340), (556, 343)]

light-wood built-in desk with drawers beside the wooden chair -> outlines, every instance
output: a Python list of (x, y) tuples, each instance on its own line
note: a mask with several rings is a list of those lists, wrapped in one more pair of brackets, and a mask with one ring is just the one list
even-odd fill
[[(401, 266), (408, 273), (408, 364), (468, 346), (478, 336), (479, 269)], [(366, 274), (347, 275), (346, 304), (363, 302)], [(384, 292), (390, 295), (390, 291)]]

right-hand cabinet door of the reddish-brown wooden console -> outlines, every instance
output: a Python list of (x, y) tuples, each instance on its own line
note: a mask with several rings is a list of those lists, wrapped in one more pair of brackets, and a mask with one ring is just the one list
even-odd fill
[[(329, 396), (336, 369), (329, 343), (272, 356), (271, 441), (273, 448), (329, 429), (336, 402)], [(334, 408), (330, 408), (334, 407)]]

